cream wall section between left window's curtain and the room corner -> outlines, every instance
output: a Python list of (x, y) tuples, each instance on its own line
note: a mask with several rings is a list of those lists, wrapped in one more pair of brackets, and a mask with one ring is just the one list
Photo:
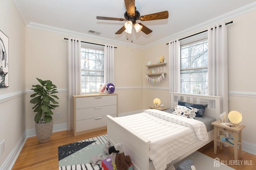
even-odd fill
[(117, 45), (114, 58), (114, 85), (118, 93), (118, 113), (143, 109), (142, 49)]

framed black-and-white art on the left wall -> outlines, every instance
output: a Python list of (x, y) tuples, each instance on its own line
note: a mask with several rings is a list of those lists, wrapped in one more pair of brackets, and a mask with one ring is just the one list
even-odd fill
[(0, 87), (9, 87), (9, 40), (0, 30)]

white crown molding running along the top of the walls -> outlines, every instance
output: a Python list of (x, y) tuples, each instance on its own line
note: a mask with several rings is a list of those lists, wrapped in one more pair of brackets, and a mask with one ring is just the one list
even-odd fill
[(103, 41), (103, 42), (108, 42), (108, 43), (113, 43), (113, 44), (118, 44), (118, 45), (124, 45), (124, 46), (139, 48), (139, 49), (146, 49), (148, 47), (158, 45), (160, 43), (169, 42), (170, 40), (172, 40), (174, 38), (175, 39), (180, 38), (180, 37), (182, 37), (186, 34), (189, 34), (189, 33), (207, 28), (208, 26), (211, 26), (214, 23), (219, 23), (219, 22), (222, 22), (224, 20), (234, 18), (235, 16), (239, 16), (241, 14), (244, 14), (244, 13), (247, 13), (247, 12), (250, 12), (250, 11), (256, 9), (256, 2), (253, 2), (253, 3), (248, 4), (246, 6), (242, 6), (241, 8), (238, 8), (236, 10), (233, 10), (231, 12), (228, 12), (226, 14), (223, 14), (221, 16), (218, 16), (216, 18), (213, 18), (211, 20), (203, 22), (201, 24), (198, 24), (196, 26), (192, 26), (192, 27), (190, 27), (186, 30), (182, 30), (182, 31), (180, 31), (176, 34), (172, 34), (172, 35), (170, 35), (166, 38), (155, 41), (153, 43), (149, 43), (147, 45), (134, 45), (134, 44), (131, 44), (131, 43), (125, 43), (125, 42), (112, 40), (112, 39), (108, 39), (108, 38), (92, 36), (92, 35), (89, 35), (89, 34), (74, 32), (74, 31), (65, 30), (65, 29), (62, 29), (62, 28), (56, 28), (56, 27), (47, 26), (47, 25), (44, 25), (44, 24), (38, 24), (38, 23), (30, 22), (30, 20), (28, 19), (28, 15), (26, 14), (26, 10), (24, 9), (24, 7), (22, 5), (22, 2), (20, 2), (19, 0), (13, 0), (13, 2), (17, 6), (17, 9), (21, 14), (22, 19), (24, 20), (24, 23), (29, 28), (36, 28), (36, 29), (40, 29), (40, 30), (46, 30), (46, 31), (50, 31), (50, 32), (56, 32), (56, 33), (60, 33), (60, 34), (66, 34), (66, 35), (70, 35), (70, 36), (76, 36), (76, 37), (81, 37), (81, 38), (86, 38), (86, 39), (96, 40), (96, 41)]

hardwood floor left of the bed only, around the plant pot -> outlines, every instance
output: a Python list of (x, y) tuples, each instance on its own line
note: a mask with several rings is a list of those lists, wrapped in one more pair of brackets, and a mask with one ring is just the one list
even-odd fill
[(58, 146), (102, 134), (107, 134), (107, 130), (78, 136), (74, 136), (72, 130), (54, 132), (46, 143), (39, 143), (36, 136), (27, 138), (12, 170), (58, 170)]

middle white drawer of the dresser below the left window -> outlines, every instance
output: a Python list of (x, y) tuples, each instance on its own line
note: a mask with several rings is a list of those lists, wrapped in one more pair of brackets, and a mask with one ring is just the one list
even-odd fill
[(106, 115), (116, 115), (116, 105), (90, 107), (86, 109), (76, 109), (76, 121), (91, 119)]

